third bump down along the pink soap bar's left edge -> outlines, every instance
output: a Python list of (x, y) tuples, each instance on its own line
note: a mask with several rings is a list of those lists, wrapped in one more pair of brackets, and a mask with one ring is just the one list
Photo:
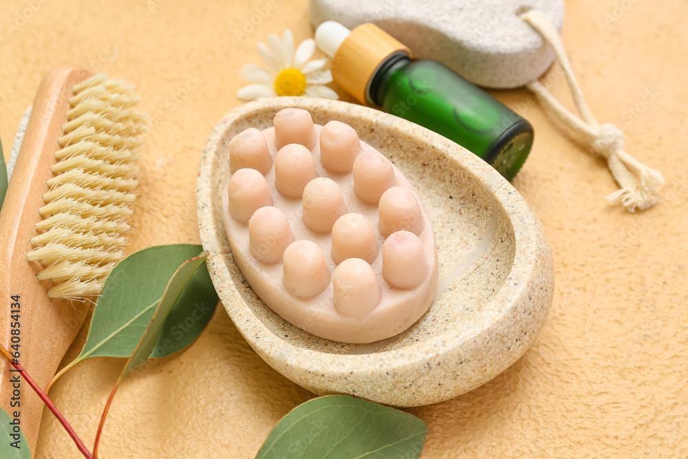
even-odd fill
[(248, 220), (251, 255), (265, 264), (281, 261), (284, 250), (294, 242), (289, 220), (277, 207), (261, 207)]

